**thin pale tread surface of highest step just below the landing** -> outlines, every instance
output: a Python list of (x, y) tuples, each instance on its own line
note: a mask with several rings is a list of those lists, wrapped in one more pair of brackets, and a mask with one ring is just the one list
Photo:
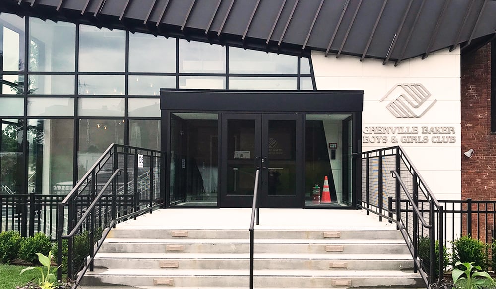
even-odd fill
[[(140, 244), (249, 244), (247, 239), (107, 238), (105, 243)], [(405, 244), (403, 239), (256, 239), (256, 244)]]

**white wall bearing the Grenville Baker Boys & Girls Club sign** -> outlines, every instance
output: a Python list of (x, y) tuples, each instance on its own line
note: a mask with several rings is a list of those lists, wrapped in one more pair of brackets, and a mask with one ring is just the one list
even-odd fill
[[(460, 148), (460, 49), (442, 50), (420, 57), (382, 64), (382, 60), (341, 55), (324, 56), (312, 53), (313, 69), (318, 90), (363, 90), (364, 111), (362, 127), (418, 127), (416, 134), (368, 134), (362, 132), (362, 151), (401, 145), (419, 169), (427, 185), (438, 199), (461, 197)], [(397, 118), (386, 105), (399, 95), (397, 88), (387, 99), (380, 99), (399, 83), (421, 83), (431, 97), (418, 110), (437, 102), (421, 118)], [(420, 111), (417, 111), (420, 113)], [(454, 134), (422, 133), (422, 127), (453, 127)], [(364, 137), (387, 136), (386, 142), (370, 143)], [(397, 143), (391, 141), (396, 136)], [(427, 143), (402, 142), (402, 136), (428, 137)], [(453, 143), (434, 143), (433, 136), (454, 136)], [(365, 141), (365, 142), (364, 142)]]

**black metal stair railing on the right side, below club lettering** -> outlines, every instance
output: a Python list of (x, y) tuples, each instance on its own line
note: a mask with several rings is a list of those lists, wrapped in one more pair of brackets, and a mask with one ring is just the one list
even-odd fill
[[(362, 153), (360, 197), (358, 207), (367, 214), (372, 212), (380, 220), (396, 223), (412, 254), (414, 271), (420, 273), (426, 286), (430, 288), (440, 280), (445, 245), (443, 206), (400, 146)], [(420, 241), (424, 240), (428, 240), (429, 248), (421, 248)]]

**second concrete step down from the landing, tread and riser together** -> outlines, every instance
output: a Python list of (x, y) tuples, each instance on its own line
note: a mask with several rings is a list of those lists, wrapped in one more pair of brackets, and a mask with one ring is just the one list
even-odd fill
[[(384, 254), (408, 254), (408, 248), (401, 240), (298, 240), (264, 239), (255, 241), (257, 253), (325, 253), (342, 252), (361, 254), (371, 252)], [(142, 253), (249, 253), (248, 240), (197, 240), (186, 239), (107, 239), (100, 252), (142, 252)]]

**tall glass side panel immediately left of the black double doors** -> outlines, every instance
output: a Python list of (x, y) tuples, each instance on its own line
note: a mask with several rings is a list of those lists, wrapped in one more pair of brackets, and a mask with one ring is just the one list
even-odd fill
[(217, 119), (217, 114), (171, 114), (171, 205), (217, 205)]

